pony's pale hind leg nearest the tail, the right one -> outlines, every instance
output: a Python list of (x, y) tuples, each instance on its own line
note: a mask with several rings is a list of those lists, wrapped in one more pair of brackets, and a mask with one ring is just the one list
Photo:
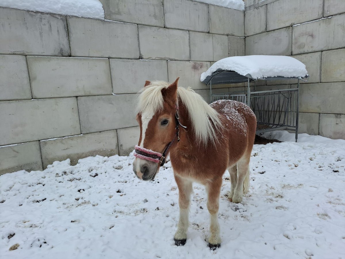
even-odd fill
[(237, 162), (238, 181), (236, 183), (233, 195), (234, 203), (240, 203), (242, 201), (244, 189), (246, 189), (246, 192), (248, 191), (247, 188), (249, 185), (249, 159), (250, 155), (246, 155)]

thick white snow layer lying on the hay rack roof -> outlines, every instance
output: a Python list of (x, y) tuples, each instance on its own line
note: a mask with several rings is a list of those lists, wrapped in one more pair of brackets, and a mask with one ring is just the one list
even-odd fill
[(200, 81), (217, 69), (236, 71), (253, 79), (276, 76), (304, 78), (308, 75), (305, 65), (293, 57), (253, 55), (220, 59), (201, 74)]

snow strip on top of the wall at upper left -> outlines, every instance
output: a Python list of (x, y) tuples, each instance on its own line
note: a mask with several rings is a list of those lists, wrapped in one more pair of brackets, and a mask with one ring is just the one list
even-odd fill
[(0, 6), (59, 15), (104, 19), (103, 6), (98, 0), (1, 0)]

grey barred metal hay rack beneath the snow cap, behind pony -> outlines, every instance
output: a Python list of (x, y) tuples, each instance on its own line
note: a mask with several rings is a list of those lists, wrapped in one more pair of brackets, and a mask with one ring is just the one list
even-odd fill
[[(289, 130), (295, 132), (295, 139), (298, 138), (298, 89), (300, 80), (308, 81), (308, 77), (268, 77), (253, 79), (250, 75), (242, 76), (235, 71), (216, 70), (212, 75), (207, 76), (203, 83), (210, 86), (210, 101), (220, 99), (236, 100), (246, 103), (255, 113), (257, 119), (256, 133)], [(297, 87), (288, 89), (260, 90), (257, 86), (258, 80), (297, 80)], [(216, 84), (237, 84), (247, 82), (246, 90), (213, 93), (212, 85)], [(254, 82), (254, 86), (250, 83)], [(295, 83), (290, 83), (295, 84)], [(267, 87), (267, 86), (266, 86)], [(274, 87), (269, 86), (269, 87)]]

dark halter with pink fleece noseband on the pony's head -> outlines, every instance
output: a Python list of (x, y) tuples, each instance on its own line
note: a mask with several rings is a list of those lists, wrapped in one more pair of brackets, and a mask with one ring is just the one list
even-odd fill
[(177, 109), (178, 108), (176, 107), (176, 112), (175, 112), (175, 122), (176, 122), (175, 130), (176, 130), (176, 134), (175, 134), (174, 139), (169, 142), (169, 144), (165, 148), (164, 152), (161, 154), (161, 153), (158, 153), (158, 152), (155, 152), (155, 151), (152, 151), (152, 150), (149, 150), (149, 149), (146, 149), (144, 147), (136, 145), (135, 146), (135, 153), (134, 153), (135, 157), (138, 157), (140, 159), (145, 159), (147, 161), (152, 161), (152, 162), (158, 163), (159, 166), (162, 166), (162, 165), (164, 165), (166, 163), (165, 157), (166, 157), (166, 155), (168, 153), (168, 150), (171, 147), (172, 143), (174, 143), (176, 137), (177, 137), (177, 142), (180, 141), (180, 137), (179, 137), (180, 128), (179, 128), (179, 126), (181, 126), (183, 128), (187, 128), (186, 126), (183, 126), (180, 123), (180, 121), (179, 121), (180, 116), (178, 114)]

